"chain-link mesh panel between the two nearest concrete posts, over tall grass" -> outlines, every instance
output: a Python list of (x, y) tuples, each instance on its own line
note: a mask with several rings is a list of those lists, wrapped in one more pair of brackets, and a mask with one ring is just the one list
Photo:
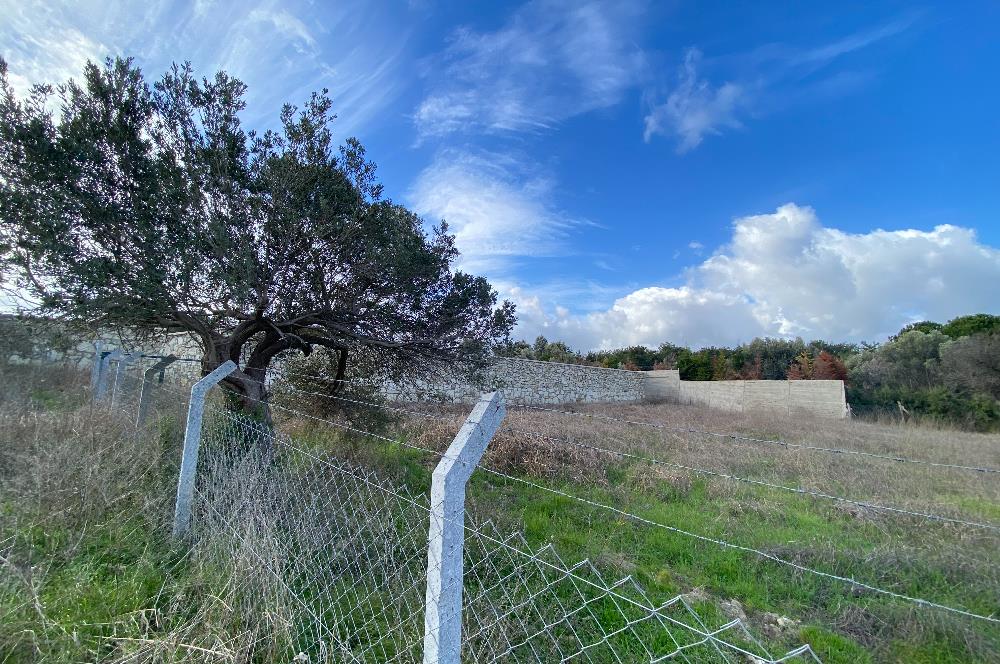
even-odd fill
[(426, 498), (247, 418), (206, 415), (196, 555), (230, 569), (261, 654), (419, 660)]

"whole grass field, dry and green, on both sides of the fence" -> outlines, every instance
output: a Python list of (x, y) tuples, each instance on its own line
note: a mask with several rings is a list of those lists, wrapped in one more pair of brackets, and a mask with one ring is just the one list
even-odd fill
[[(261, 645), (287, 625), (273, 589), (245, 592), (266, 583), (255, 566), (229, 555), (232, 550), (192, 556), (167, 536), (180, 433), (176, 414), (182, 410), (177, 400), (164, 399), (166, 416), (135, 435), (123, 418), (92, 409), (77, 374), (5, 374), (0, 662), (290, 659)], [(297, 405), (287, 396), (279, 403)], [(435, 419), (386, 417), (364, 406), (322, 414), (397, 442), (281, 410), (276, 415), (281, 431), (305, 449), (372, 469), (420, 494), (430, 486), (436, 458), (411, 446), (445, 449), (467, 410), (436, 407)], [(997, 436), (788, 421), (670, 404), (574, 410), (676, 429), (1000, 467)], [(496, 524), (497, 532), (521, 533), (533, 549), (551, 544), (566, 561), (587, 558), (609, 579), (630, 575), (653, 600), (684, 594), (708, 624), (743, 618), (775, 652), (807, 642), (825, 662), (1000, 661), (996, 624), (865, 592), (661, 527), (998, 615), (996, 530), (678, 466), (992, 525), (1000, 523), (995, 474), (545, 411), (512, 408), (505, 426), (483, 461), (503, 475), (477, 471), (468, 489), (470, 514)]]

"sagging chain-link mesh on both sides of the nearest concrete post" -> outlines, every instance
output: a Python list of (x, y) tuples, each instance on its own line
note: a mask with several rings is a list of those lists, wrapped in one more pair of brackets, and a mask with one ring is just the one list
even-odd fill
[[(256, 654), (420, 661), (426, 493), (217, 408), (202, 454), (194, 555), (227, 570), (221, 599), (258, 617)], [(808, 646), (774, 657), (739, 620), (709, 626), (683, 596), (654, 603), (520, 532), (464, 527), (463, 661), (818, 661)]]

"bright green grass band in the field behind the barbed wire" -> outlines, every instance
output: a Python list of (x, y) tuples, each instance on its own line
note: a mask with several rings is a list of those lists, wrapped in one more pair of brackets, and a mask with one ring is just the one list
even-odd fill
[[(327, 433), (325, 442), (330, 449), (406, 478), (412, 487), (429, 485), (433, 459), (421, 462), (398, 445), (366, 440), (359, 447), (356, 441), (345, 440)], [(826, 501), (754, 486), (740, 485), (720, 497), (715, 480), (696, 478), (679, 486), (666, 480), (651, 482), (646, 471), (644, 464), (614, 464), (600, 483), (527, 479), (897, 593), (985, 615), (1000, 613), (995, 586), (977, 584), (947, 559), (909, 548), (922, 538), (946, 535), (946, 525), (858, 519)], [(823, 661), (971, 663), (989, 661), (1000, 647), (1000, 634), (992, 626), (933, 609), (911, 611), (909, 605), (891, 598), (854, 593), (849, 584), (799, 573), (753, 554), (699, 542), (489, 473), (476, 473), (467, 493), (470, 510), (481, 519), (523, 531), (534, 548), (552, 544), (567, 562), (587, 558), (609, 576), (631, 575), (653, 601), (702, 588), (713, 601), (738, 600), (751, 624), (760, 623), (767, 613), (792, 618), (799, 628), (772, 639), (772, 645), (791, 648), (808, 642)], [(982, 500), (966, 499), (962, 504), (985, 516), (997, 508)], [(988, 542), (978, 549), (970, 543), (969, 552), (989, 560)], [(859, 614), (874, 616), (881, 627), (856, 629)], [(719, 616), (718, 622), (725, 620)], [(831, 629), (831, 624), (846, 626), (849, 632)], [(905, 638), (886, 638), (894, 630)]]

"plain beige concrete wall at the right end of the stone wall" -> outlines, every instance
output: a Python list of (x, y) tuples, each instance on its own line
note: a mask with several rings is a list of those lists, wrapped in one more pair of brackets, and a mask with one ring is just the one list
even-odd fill
[(681, 380), (676, 370), (647, 372), (646, 397), (734, 412), (796, 411), (817, 417), (847, 417), (839, 380)]

